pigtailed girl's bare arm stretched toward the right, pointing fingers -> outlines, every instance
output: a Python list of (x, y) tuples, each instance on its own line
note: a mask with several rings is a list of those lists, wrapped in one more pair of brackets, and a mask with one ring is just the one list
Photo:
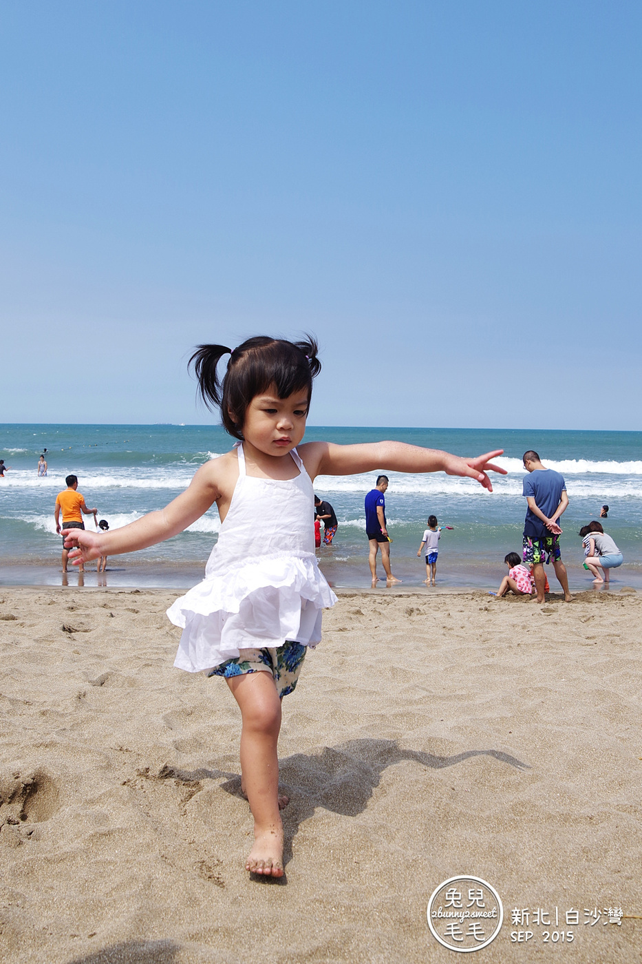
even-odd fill
[(466, 475), (481, 483), (489, 492), (493, 492), (487, 471), (506, 474), (506, 469), (501, 469), (490, 461), (501, 455), (503, 448), (473, 459), (441, 452), (437, 448), (419, 448), (406, 442), (372, 442), (362, 445), (308, 442), (300, 445), (299, 451), (312, 478), (315, 475), (353, 475), (375, 469), (391, 469), (397, 472), (442, 471), (447, 475)]

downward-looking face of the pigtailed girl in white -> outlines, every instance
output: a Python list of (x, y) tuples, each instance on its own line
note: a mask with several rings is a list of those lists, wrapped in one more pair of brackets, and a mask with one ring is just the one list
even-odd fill
[(265, 455), (287, 455), (306, 432), (308, 391), (279, 398), (274, 387), (255, 395), (245, 413), (243, 436)]

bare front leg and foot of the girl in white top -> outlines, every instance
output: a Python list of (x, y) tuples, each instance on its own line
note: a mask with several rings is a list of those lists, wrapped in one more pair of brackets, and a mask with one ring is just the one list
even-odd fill
[(241, 731), (242, 787), (254, 817), (254, 847), (246, 870), (266, 876), (283, 875), (283, 825), (279, 810), (281, 700), (272, 675), (247, 673), (227, 679), (243, 719)]

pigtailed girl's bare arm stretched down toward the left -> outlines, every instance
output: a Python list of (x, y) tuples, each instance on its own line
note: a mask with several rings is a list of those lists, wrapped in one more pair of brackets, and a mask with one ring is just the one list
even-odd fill
[[(214, 460), (214, 462), (217, 462)], [(123, 525), (111, 532), (89, 532), (85, 529), (66, 529), (65, 549), (71, 549), (69, 559), (74, 566), (90, 562), (101, 555), (119, 555), (147, 549), (171, 539), (196, 522), (213, 502), (221, 497), (216, 484), (213, 462), (198, 470), (185, 492), (178, 495), (164, 509), (150, 512), (136, 522)]]

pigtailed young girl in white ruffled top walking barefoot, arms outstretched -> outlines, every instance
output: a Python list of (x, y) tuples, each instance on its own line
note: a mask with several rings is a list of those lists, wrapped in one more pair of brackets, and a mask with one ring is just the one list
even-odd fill
[[(223, 382), (221, 358), (230, 354)], [(321, 611), (336, 597), (314, 555), (312, 479), (388, 467), (445, 471), (476, 479), (490, 492), (489, 460), (459, 458), (402, 442), (307, 442), (312, 379), (321, 364), (313, 338), (296, 343), (254, 337), (230, 352), (201, 345), (194, 363), (202, 398), (218, 408), (238, 441), (201, 466), (165, 509), (112, 532), (66, 531), (78, 565), (101, 555), (146, 549), (170, 539), (216, 502), (219, 539), (205, 578), (168, 610), (183, 629), (174, 665), (226, 679), (241, 710), (241, 789), (254, 816), (246, 868), (281, 877), (283, 831), (277, 742), (281, 699), (297, 684), (308, 646), (321, 639)], [(260, 553), (260, 554), (257, 554)]]

